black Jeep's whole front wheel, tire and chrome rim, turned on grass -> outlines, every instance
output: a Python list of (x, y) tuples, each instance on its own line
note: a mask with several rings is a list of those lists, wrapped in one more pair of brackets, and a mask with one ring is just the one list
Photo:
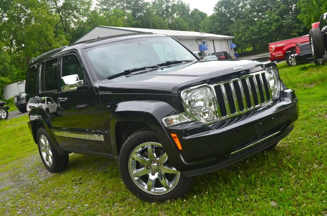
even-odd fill
[(133, 133), (119, 155), (119, 171), (127, 188), (144, 201), (163, 202), (181, 197), (192, 186), (192, 178), (171, 165), (155, 133), (149, 129)]

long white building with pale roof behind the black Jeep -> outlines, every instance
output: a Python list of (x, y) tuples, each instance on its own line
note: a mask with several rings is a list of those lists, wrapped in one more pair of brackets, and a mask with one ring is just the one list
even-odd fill
[(226, 51), (232, 57), (234, 57), (234, 49), (232, 48), (234, 46), (232, 42), (232, 39), (234, 37), (201, 33), (201, 32), (97, 26), (93, 30), (91, 30), (88, 34), (79, 38), (76, 42), (95, 39), (99, 37), (107, 37), (107, 36), (128, 34), (128, 33), (144, 33), (144, 32), (170, 35), (176, 38), (177, 40), (179, 40), (192, 52), (199, 51), (199, 45), (205, 44), (208, 47), (208, 51), (205, 51), (205, 55), (215, 52), (220, 52), (220, 51)]

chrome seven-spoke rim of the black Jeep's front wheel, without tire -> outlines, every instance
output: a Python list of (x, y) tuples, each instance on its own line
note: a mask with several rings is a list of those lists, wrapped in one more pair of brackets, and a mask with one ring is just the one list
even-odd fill
[(128, 170), (134, 183), (143, 191), (163, 195), (176, 187), (181, 173), (169, 165), (160, 143), (145, 142), (129, 156)]

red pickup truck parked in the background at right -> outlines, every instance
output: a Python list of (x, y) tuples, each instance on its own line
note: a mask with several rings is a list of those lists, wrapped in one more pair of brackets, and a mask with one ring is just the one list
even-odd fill
[[(312, 27), (317, 28), (317, 25), (319, 25), (319, 22), (313, 23)], [(269, 43), (269, 60), (286, 60), (289, 66), (294, 66), (296, 64), (294, 61), (294, 55), (296, 53), (296, 44), (302, 44), (307, 42), (309, 42), (309, 35)]]

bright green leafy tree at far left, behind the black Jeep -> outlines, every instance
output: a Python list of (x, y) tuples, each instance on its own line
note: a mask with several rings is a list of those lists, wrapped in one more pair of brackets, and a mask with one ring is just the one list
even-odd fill
[(13, 0), (1, 25), (5, 39), (0, 51), (1, 73), (12, 81), (24, 80), (32, 58), (66, 44), (64, 37), (54, 34), (57, 22), (46, 2)]

